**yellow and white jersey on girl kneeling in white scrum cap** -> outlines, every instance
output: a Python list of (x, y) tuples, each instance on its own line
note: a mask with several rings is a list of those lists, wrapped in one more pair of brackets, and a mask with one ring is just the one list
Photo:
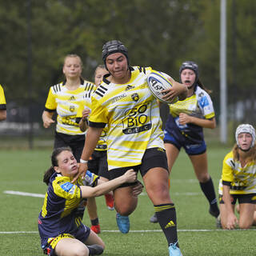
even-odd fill
[(230, 194), (256, 193), (256, 162), (248, 162), (242, 167), (241, 162), (234, 160), (233, 151), (226, 154), (218, 186), (219, 194), (222, 194), (223, 184), (230, 186)]

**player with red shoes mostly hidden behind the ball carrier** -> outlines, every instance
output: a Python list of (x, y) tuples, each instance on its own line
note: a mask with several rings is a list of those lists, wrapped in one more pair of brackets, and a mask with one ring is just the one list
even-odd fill
[[(109, 72), (106, 70), (105, 66), (99, 65), (96, 67), (94, 72), (94, 83), (98, 87), (102, 82), (102, 78), (104, 74), (108, 74)], [(87, 118), (90, 114), (90, 106), (81, 106), (78, 110), (78, 118), (81, 118), (79, 122), (80, 129), (82, 131), (86, 131), (87, 129)], [(81, 111), (82, 110), (82, 111)], [(81, 113), (82, 112), (82, 113)], [(98, 174), (100, 176), (105, 177), (105, 180), (109, 180), (107, 161), (106, 161), (106, 132), (107, 128), (104, 128), (102, 131), (102, 136), (98, 141), (98, 145), (96, 146), (94, 153), (90, 156), (90, 160), (88, 161), (88, 170), (90, 170), (94, 174)], [(110, 192), (105, 194), (106, 206), (109, 210), (114, 210), (114, 198), (113, 193)], [(98, 214), (97, 214), (97, 205), (95, 198), (88, 198), (86, 205), (90, 222), (91, 222), (91, 230), (94, 230), (96, 234), (99, 234), (101, 231)]]

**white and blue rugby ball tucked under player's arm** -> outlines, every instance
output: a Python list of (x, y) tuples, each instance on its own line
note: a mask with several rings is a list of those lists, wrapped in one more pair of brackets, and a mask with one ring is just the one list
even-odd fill
[(159, 71), (153, 71), (147, 76), (146, 82), (151, 93), (154, 95), (154, 98), (157, 98), (160, 102), (165, 102), (167, 104), (178, 102), (178, 97), (174, 98), (172, 101), (162, 99), (162, 96), (165, 94), (162, 93), (162, 90), (170, 89), (173, 86), (167, 79), (166, 74)]

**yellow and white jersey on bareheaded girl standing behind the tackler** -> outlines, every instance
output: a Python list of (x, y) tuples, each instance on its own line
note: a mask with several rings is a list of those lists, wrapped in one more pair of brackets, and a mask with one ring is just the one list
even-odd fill
[(78, 107), (90, 101), (90, 95), (95, 89), (94, 83), (88, 81), (81, 81), (81, 85), (76, 90), (68, 90), (65, 82), (50, 87), (45, 110), (57, 111), (56, 130), (58, 133), (85, 134), (76, 122)]

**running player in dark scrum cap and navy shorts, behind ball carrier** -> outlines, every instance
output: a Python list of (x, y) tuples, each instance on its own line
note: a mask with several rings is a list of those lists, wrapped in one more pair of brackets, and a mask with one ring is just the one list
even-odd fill
[[(170, 114), (164, 130), (165, 148), (169, 172), (183, 147), (194, 167), (202, 192), (209, 204), (209, 212), (215, 218), (219, 210), (214, 191), (214, 183), (208, 173), (206, 142), (203, 128), (214, 129), (216, 126), (214, 106), (207, 90), (198, 78), (198, 65), (194, 62), (183, 62), (179, 69), (182, 84), (188, 89), (187, 98), (170, 104)], [(150, 222), (158, 222), (154, 214)]]

